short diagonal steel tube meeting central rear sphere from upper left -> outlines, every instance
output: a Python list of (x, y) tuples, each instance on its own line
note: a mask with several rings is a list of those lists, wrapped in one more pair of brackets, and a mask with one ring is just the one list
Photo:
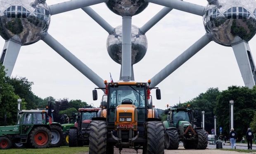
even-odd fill
[(114, 32), (115, 28), (113, 28), (107, 21), (105, 21), (97, 12), (95, 12), (91, 7), (83, 7), (82, 8), (85, 13), (87, 13), (93, 20), (95, 20), (104, 30), (106, 30), (109, 34)]

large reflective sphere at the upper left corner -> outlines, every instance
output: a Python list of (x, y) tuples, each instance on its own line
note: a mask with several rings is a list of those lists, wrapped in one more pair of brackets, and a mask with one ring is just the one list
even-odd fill
[(5, 40), (33, 44), (49, 24), (50, 9), (44, 0), (0, 0), (0, 35)]

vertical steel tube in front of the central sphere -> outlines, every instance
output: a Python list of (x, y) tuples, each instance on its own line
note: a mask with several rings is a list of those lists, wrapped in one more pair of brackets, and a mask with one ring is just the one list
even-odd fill
[(132, 79), (132, 16), (123, 16), (122, 80)]

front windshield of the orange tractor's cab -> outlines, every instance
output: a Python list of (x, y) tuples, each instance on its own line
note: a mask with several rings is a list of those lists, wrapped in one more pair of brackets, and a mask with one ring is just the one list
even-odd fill
[(137, 108), (145, 108), (145, 87), (121, 85), (109, 87), (109, 108), (116, 108), (123, 100), (131, 102)]

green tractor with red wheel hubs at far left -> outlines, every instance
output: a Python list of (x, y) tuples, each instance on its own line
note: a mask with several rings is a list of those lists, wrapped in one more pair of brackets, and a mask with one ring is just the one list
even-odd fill
[(17, 125), (0, 126), (0, 149), (59, 147), (63, 140), (61, 125), (48, 124), (47, 110), (19, 110)]

